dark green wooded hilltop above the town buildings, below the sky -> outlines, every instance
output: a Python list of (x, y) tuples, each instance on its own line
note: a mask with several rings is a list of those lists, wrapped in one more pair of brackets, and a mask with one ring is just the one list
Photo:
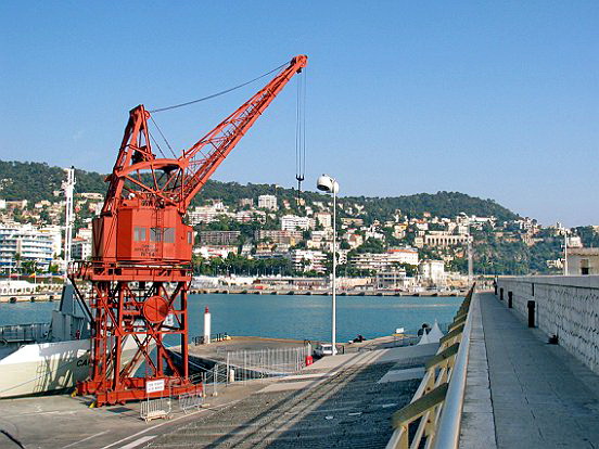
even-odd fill
[[(105, 193), (106, 191), (105, 175), (76, 169), (75, 178), (76, 193)], [(55, 201), (53, 191), (61, 189), (63, 180), (64, 170), (60, 167), (51, 167), (46, 163), (0, 161), (0, 198), (2, 200), (28, 200), (34, 203), (41, 200)], [(297, 192), (295, 189), (284, 189), (273, 184), (242, 185), (238, 182), (208, 181), (193, 204), (199, 205), (207, 200), (219, 198), (225, 204), (233, 205), (240, 198), (251, 197), (256, 201), (257, 196), (263, 194), (276, 194), (279, 201), (289, 200), (294, 205)], [(302, 197), (307, 204), (327, 201), (326, 195), (316, 192), (303, 192)], [(466, 213), (482, 217), (493, 215), (499, 221), (518, 218), (518, 215), (493, 200), (482, 200), (459, 192), (417, 193), (395, 197), (343, 196), (340, 201), (364, 205), (367, 222), (374, 219), (390, 219), (396, 209), (402, 209), (404, 214), (411, 217), (421, 217), (428, 211), (438, 217), (455, 217)]]

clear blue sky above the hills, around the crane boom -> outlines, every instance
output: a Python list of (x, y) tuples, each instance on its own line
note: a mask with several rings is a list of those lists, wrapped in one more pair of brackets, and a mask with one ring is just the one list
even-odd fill
[[(599, 2), (0, 4), (0, 158), (107, 172), (127, 120), (305, 53), (307, 187), (490, 197), (599, 224)], [(263, 81), (260, 81), (263, 82)], [(157, 114), (192, 144), (260, 84)], [(295, 183), (292, 82), (215, 174)]]

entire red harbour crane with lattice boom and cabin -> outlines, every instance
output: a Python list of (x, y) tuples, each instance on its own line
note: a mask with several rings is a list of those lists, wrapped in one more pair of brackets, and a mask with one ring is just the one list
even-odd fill
[[(163, 396), (149, 381), (164, 381), (170, 395), (201, 390), (188, 372), (187, 300), (191, 283), (193, 228), (183, 216), (214, 170), (233, 150), (289, 80), (305, 55), (282, 70), (179, 158), (156, 158), (148, 129), (150, 113), (130, 111), (102, 213), (93, 219), (90, 261), (74, 262), (69, 279), (91, 316), (90, 377), (77, 385), (98, 406)], [(91, 286), (87, 296), (84, 281)], [(165, 337), (180, 338), (180, 362)], [(137, 348), (124, 357), (127, 339)], [(155, 347), (155, 355), (152, 350)], [(127, 360), (127, 362), (125, 362)], [(136, 376), (143, 361), (145, 376)], [(161, 382), (158, 382), (161, 384)], [(155, 384), (154, 384), (155, 385)]]

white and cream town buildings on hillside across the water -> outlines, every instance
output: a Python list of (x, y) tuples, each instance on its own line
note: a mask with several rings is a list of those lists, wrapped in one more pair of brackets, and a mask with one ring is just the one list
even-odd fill
[[(100, 193), (76, 195), (79, 219), (72, 259), (91, 258), (90, 221), (99, 214), (102, 202)], [(457, 274), (456, 268), (460, 267), (463, 273), (463, 264), (456, 262), (464, 260), (469, 235), (474, 235), (475, 259), (477, 245), (484, 239), (496, 246), (534, 247), (552, 238), (560, 239), (560, 243), (555, 254), (547, 257), (548, 272), (561, 272), (568, 265), (570, 274), (599, 273), (599, 255), (583, 247), (579, 235), (561, 223), (544, 228), (527, 217), (504, 222), (493, 216), (439, 217), (432, 213), (409, 216), (395, 209), (377, 213), (374, 219), (368, 204), (344, 200), (339, 203), (334, 242), (332, 204), (328, 198), (308, 202), (302, 198), (297, 203), (289, 196), (265, 194), (227, 203), (203, 200), (197, 204), (202, 205), (190, 208), (186, 219), (196, 230), (194, 260), (204, 260), (211, 267), (230, 265), (230, 260), (239, 262), (242, 257), (260, 260), (264, 267), (277, 267), (270, 272), (286, 269), (293, 275), (327, 275), (335, 248), (340, 272), (348, 278), (371, 277), (373, 283), (388, 288), (411, 287), (415, 282), (443, 286), (463, 275)], [(0, 270), (63, 267), (63, 215), (64, 201), (60, 197), (37, 202), (0, 198)], [(564, 238), (568, 264), (560, 249)], [(495, 267), (480, 264), (479, 270), (494, 272)]]

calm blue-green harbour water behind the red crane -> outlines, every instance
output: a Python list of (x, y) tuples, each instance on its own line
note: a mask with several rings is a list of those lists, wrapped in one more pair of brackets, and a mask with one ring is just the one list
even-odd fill
[[(422, 323), (451, 321), (462, 297), (337, 296), (337, 341), (361, 334), (390, 335), (397, 328), (415, 331)], [(330, 339), (331, 297), (293, 295), (190, 295), (190, 336), (201, 335), (204, 308), (212, 331), (297, 339)], [(0, 324), (50, 321), (59, 303), (0, 304)]]

